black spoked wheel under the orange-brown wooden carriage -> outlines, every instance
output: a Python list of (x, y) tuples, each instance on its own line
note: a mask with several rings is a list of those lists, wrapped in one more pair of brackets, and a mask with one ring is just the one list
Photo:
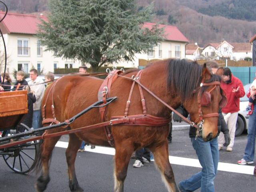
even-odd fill
[[(2, 137), (10, 136), (17, 130), (4, 131)], [(32, 141), (17, 146), (6, 148), (3, 154), (4, 161), (10, 169), (16, 173), (25, 174), (35, 166), (35, 159), (38, 153), (38, 142)]]

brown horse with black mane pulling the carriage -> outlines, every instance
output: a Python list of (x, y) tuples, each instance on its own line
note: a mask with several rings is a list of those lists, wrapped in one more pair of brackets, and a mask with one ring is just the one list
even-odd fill
[[(122, 74), (125, 77), (136, 75), (138, 71)], [(132, 80), (118, 77), (111, 87), (110, 96), (117, 96), (117, 100), (108, 105), (106, 120), (113, 116), (123, 116), (126, 108), (126, 101)], [(198, 119), (198, 92), (210, 92), (210, 103), (208, 106), (201, 106), (202, 114), (217, 113), (222, 99), (220, 86), (209, 85), (200, 89), (202, 82), (220, 81), (218, 76), (212, 75), (206, 66), (200, 66), (196, 62), (186, 60), (163, 60), (147, 66), (141, 75), (140, 82), (146, 88), (154, 92), (164, 102), (176, 108), (183, 105), (190, 113), (190, 119)], [(90, 106), (98, 100), (98, 90), (102, 84), (102, 79), (95, 77), (64, 76), (49, 87), (44, 94), (42, 106), (46, 104), (46, 118), (52, 118), (51, 97), (46, 102), (49, 92), (53, 91), (56, 119), (63, 122), (74, 116), (84, 108)], [(211, 90), (211, 91), (209, 91)], [(156, 98), (143, 90), (146, 101), (146, 110), (152, 116), (170, 118), (171, 111), (161, 104)], [(128, 115), (142, 114), (142, 104), (138, 85), (134, 86), (134, 91), (130, 100), (130, 109)], [(43, 110), (43, 109), (42, 109)], [(217, 134), (217, 116), (205, 117), (202, 137), (205, 141), (211, 140)], [(55, 128), (48, 133), (60, 132), (65, 129), (76, 129), (87, 125), (100, 123), (100, 114), (97, 109), (92, 109), (68, 128)], [(196, 122), (198, 123), (198, 122)], [(154, 154), (154, 162), (159, 168), (162, 179), (169, 192), (177, 190), (174, 180), (174, 174), (168, 158), (167, 135), (169, 125), (165, 126), (128, 126), (124, 124), (111, 127), (114, 138), (115, 169), (114, 169), (114, 191), (122, 192), (124, 190), (124, 180), (127, 174), (128, 163), (132, 152), (137, 149), (147, 147)], [(59, 140), (59, 137), (45, 139), (40, 146), (40, 158), (38, 166), (42, 173), (35, 185), (37, 191), (44, 191), (49, 178), (49, 160), (52, 150)], [(82, 140), (88, 143), (110, 146), (104, 132), (104, 128), (95, 128), (84, 132), (69, 135), (69, 144), (66, 150), (66, 160), (68, 164), (69, 186), (71, 191), (83, 191), (79, 186), (75, 173), (75, 160), (78, 148)]]

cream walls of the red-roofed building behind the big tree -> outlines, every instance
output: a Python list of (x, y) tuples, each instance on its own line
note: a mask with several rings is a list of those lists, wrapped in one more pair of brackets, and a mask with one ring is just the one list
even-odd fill
[[(28, 63), (28, 71), (34, 66), (37, 69), (37, 64), (41, 64), (41, 70), (44, 74), (54, 71), (54, 63), (57, 64), (57, 68), (65, 68), (65, 64), (72, 64), (73, 68), (78, 68), (81, 63), (74, 60), (66, 60), (54, 56), (53, 52), (45, 51), (42, 48), (42, 56), (37, 55), (37, 40), (36, 35), (26, 34), (5, 34), (7, 54), (10, 56), (8, 59), (7, 72), (12, 74), (13, 70), (18, 70), (18, 63)], [(28, 47), (30, 48), (30, 54), (28, 56), (18, 55), (18, 39), (28, 39)], [(180, 58), (185, 58), (185, 42), (170, 42), (163, 41), (160, 43), (162, 49), (162, 55), (159, 55), (159, 47), (154, 48), (154, 56), (148, 56), (148, 54), (136, 54), (134, 61), (132, 62), (118, 62), (114, 64), (108, 64), (108, 66), (124, 66), (125, 68), (138, 67), (139, 59), (152, 60), (152, 59), (166, 59), (175, 58), (175, 46), (180, 46)], [(3, 49), (3, 46), (1, 46)], [(171, 51), (171, 52), (170, 52)], [(90, 67), (89, 64), (87, 64)], [(12, 77), (14, 79), (14, 77)]]

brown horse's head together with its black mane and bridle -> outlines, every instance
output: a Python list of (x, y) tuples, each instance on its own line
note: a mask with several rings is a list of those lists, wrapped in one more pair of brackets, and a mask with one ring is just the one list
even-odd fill
[(218, 110), (226, 104), (220, 88), (220, 76), (212, 74), (206, 64), (199, 66), (186, 60), (171, 60), (168, 72), (170, 88), (176, 90), (181, 104), (190, 114), (190, 120), (202, 129), (198, 136), (202, 136), (204, 141), (216, 137)]

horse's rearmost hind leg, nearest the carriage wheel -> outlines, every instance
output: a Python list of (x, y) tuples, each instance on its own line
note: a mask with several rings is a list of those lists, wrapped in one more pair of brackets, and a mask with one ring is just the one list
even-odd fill
[(37, 192), (42, 192), (46, 189), (48, 182), (50, 182), (49, 177), (49, 160), (52, 155), (52, 150), (54, 149), (55, 144), (60, 139), (59, 137), (45, 139), (40, 146), (40, 158), (42, 164), (42, 172), (38, 177), (35, 188)]

